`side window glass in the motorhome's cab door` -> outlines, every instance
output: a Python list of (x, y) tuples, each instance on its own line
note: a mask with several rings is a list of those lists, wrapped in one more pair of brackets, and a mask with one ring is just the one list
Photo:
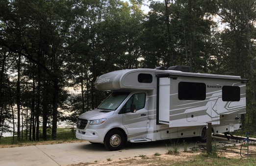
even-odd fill
[(130, 112), (130, 105), (135, 104), (136, 110), (140, 110), (145, 107), (145, 101), (146, 101), (146, 94), (145, 93), (138, 93), (132, 95), (126, 104), (123, 107), (123, 113), (129, 113)]

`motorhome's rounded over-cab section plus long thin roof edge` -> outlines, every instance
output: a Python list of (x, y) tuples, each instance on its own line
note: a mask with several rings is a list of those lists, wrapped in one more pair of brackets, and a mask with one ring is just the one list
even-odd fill
[[(152, 80), (152, 82), (138, 82), (139, 75), (144, 74), (142, 78)], [(99, 76), (95, 81), (95, 87), (98, 90), (151, 90), (154, 89), (154, 80), (147, 75), (154, 75), (157, 77), (202, 77), (202, 78), (220, 78), (220, 79), (234, 79), (241, 82), (247, 82), (246, 79), (241, 79), (240, 76), (233, 75), (218, 75), (218, 74), (204, 74), (193, 72), (182, 72), (173, 70), (155, 70), (155, 69), (127, 69), (120, 71), (112, 71)]]

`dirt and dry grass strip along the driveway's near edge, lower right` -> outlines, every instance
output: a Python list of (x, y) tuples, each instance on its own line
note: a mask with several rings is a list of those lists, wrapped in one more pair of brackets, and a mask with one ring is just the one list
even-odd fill
[[(186, 152), (178, 152), (172, 154), (154, 154), (152, 156), (134, 156), (131, 158), (119, 159), (94, 163), (79, 163), (69, 166), (170, 166), (178, 164), (179, 162), (194, 161), (196, 155), (206, 154), (205, 150), (189, 150)], [(240, 156), (240, 146), (220, 147), (217, 150), (218, 158), (226, 157), (228, 159), (245, 158), (247, 154), (247, 147), (242, 148), (242, 156)], [(249, 154), (256, 154), (256, 146), (250, 146)], [(207, 162), (207, 160), (205, 160)]]

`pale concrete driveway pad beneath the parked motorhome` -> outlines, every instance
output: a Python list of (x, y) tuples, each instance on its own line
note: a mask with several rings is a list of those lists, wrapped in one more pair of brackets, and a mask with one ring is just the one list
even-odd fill
[[(184, 151), (182, 142), (179, 141), (179, 151)], [(185, 142), (187, 150), (202, 144), (206, 145), (206, 143), (199, 143), (189, 138)], [(229, 143), (230, 141), (225, 138), (215, 138), (215, 142), (220, 144), (219, 142)], [(90, 142), (0, 148), (0, 166), (68, 166), (95, 161), (105, 162), (107, 159), (114, 161), (140, 155), (151, 156), (156, 152), (165, 154), (168, 149), (172, 148), (171, 146), (171, 142), (166, 140), (128, 143), (119, 151), (108, 151), (103, 144), (91, 144)]]

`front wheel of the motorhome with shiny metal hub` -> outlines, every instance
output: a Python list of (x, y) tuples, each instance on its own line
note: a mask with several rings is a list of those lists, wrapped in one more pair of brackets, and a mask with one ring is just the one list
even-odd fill
[(104, 145), (109, 151), (119, 150), (124, 146), (125, 136), (119, 130), (109, 131), (104, 139)]

